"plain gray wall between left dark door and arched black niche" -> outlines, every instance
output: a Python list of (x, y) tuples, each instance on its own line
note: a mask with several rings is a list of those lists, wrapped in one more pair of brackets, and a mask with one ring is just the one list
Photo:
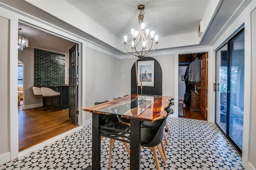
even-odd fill
[(86, 47), (85, 62), (86, 104), (120, 97), (120, 59)]

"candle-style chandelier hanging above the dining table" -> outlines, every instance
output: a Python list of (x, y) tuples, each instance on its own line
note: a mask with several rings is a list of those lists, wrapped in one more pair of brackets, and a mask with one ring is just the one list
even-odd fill
[[(157, 47), (158, 43), (158, 36), (154, 36), (154, 31), (150, 32), (150, 40), (149, 37), (149, 30), (146, 29), (146, 34), (144, 34), (145, 24), (143, 23), (144, 18), (144, 5), (139, 5), (138, 9), (140, 10), (139, 14), (139, 30), (134, 31), (131, 30), (132, 33), (132, 42), (130, 44), (127, 43), (127, 36), (124, 36), (124, 44), (125, 49), (128, 51), (127, 47), (131, 46), (132, 51), (128, 51), (128, 53), (138, 57), (143, 58), (146, 55), (152, 54)], [(153, 42), (154, 41), (154, 42)], [(152, 51), (151, 51), (152, 50)]]

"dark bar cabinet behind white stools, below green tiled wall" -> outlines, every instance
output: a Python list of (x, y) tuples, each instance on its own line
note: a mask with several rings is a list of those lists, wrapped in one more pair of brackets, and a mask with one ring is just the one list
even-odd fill
[[(60, 92), (60, 109), (68, 109), (69, 108), (69, 86), (63, 85), (63, 86), (43, 86), (48, 87), (50, 89), (53, 89), (54, 91)], [(48, 104), (49, 101), (48, 97), (43, 97), (43, 102)], [(55, 102), (58, 102), (58, 97), (52, 97), (52, 106), (58, 107), (58, 104), (55, 104)]]

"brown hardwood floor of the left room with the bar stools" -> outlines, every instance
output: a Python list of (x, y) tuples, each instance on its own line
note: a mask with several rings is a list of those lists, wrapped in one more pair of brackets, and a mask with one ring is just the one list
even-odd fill
[(69, 119), (68, 109), (44, 113), (34, 109), (22, 110), (20, 105), (18, 106), (19, 152), (75, 127), (78, 125), (74, 125)]

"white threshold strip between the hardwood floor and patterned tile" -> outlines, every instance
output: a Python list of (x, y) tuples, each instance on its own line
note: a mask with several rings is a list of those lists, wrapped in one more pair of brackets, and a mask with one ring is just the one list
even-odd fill
[(57, 140), (60, 140), (60, 139), (64, 138), (65, 136), (67, 136), (67, 135), (69, 135), (73, 132), (76, 132), (76, 131), (78, 131), (82, 128), (83, 128), (82, 126), (73, 128), (73, 129), (69, 130), (68, 132), (62, 133), (58, 136), (55, 136), (55, 137), (50, 138), (50, 139), (48, 139), (44, 142), (41, 142), (40, 144), (36, 144), (36, 145), (26, 149), (26, 150), (23, 150), (23, 151), (19, 152), (17, 158), (20, 160), (20, 159), (24, 158), (24, 156), (26, 156), (28, 154), (31, 154), (32, 152), (37, 152), (39, 149), (43, 148), (44, 146), (47, 146), (47, 145), (49, 145), (53, 142), (56, 142)]

